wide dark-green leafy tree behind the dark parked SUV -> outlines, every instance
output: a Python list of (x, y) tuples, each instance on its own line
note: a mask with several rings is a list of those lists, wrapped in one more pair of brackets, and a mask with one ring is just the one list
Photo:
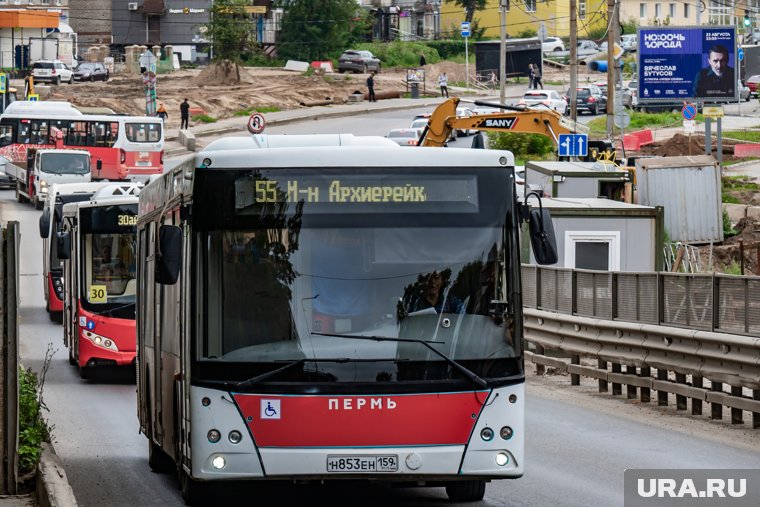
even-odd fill
[(327, 60), (361, 39), (367, 15), (355, 0), (280, 0), (277, 54), (284, 59)]

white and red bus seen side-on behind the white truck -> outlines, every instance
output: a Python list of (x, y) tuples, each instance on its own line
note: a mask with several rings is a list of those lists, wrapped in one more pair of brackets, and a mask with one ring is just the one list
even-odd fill
[(0, 116), (0, 156), (25, 167), (30, 148), (87, 150), (93, 180), (147, 181), (163, 172), (163, 124), (150, 116), (89, 115), (65, 102), (17, 101)]

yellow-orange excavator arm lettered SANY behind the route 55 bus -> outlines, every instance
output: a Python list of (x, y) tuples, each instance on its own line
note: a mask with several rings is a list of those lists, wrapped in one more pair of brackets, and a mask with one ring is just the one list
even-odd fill
[(419, 145), (445, 146), (454, 129), (543, 134), (551, 138), (555, 146), (559, 144), (560, 134), (588, 133), (588, 127), (585, 125), (575, 123), (551, 109), (523, 109), (479, 101), (475, 101), (474, 104), (511, 110), (467, 117), (457, 116), (459, 98), (452, 97), (442, 102), (430, 115)]

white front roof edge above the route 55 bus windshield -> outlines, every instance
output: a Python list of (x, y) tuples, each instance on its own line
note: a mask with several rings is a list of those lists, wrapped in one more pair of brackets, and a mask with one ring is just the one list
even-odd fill
[[(393, 141), (391, 141), (393, 142)], [(212, 143), (213, 144), (213, 143)], [(395, 145), (395, 143), (393, 143)], [(209, 145), (211, 146), (211, 145)], [(196, 167), (224, 169), (275, 167), (513, 167), (514, 155), (503, 150), (471, 148), (400, 148), (391, 146), (298, 146), (284, 149), (205, 149)]]

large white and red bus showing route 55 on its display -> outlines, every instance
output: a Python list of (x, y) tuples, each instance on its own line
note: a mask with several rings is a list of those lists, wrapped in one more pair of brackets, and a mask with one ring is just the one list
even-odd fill
[(220, 140), (141, 192), (148, 463), (189, 504), (229, 479), (482, 499), (525, 466), (514, 157), (327, 142)]

